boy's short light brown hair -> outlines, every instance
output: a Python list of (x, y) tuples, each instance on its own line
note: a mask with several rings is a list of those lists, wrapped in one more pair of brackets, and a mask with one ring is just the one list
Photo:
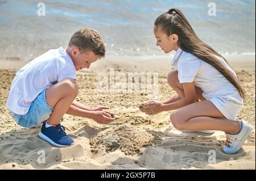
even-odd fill
[(69, 40), (68, 47), (76, 46), (81, 52), (92, 51), (94, 54), (104, 57), (105, 45), (103, 39), (96, 30), (84, 28), (75, 32)]

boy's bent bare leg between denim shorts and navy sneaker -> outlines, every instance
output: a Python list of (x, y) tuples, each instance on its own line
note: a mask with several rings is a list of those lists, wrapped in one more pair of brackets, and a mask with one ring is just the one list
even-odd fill
[(74, 79), (64, 79), (46, 90), (46, 100), (53, 111), (47, 124), (59, 124), (61, 117), (69, 110), (78, 94), (78, 86)]

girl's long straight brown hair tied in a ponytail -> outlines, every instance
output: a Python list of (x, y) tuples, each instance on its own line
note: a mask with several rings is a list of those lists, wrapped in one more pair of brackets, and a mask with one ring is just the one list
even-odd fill
[(155, 20), (155, 27), (160, 27), (167, 36), (176, 34), (179, 37), (179, 40), (177, 41), (179, 48), (184, 52), (193, 54), (200, 60), (203, 60), (216, 68), (237, 88), (242, 98), (245, 98), (245, 92), (242, 89), (240, 79), (236, 77), (232, 71), (228, 70), (228, 68), (218, 60), (218, 57), (223, 58), (228, 64), (226, 59), (197, 37), (195, 31), (193, 31), (193, 28), (180, 10), (170, 9), (168, 12), (158, 16)]

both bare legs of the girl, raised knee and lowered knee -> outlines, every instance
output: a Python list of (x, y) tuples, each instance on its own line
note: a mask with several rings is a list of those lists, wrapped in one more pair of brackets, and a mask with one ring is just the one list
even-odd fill
[[(172, 101), (178, 98), (184, 98), (184, 90), (182, 84), (178, 79), (178, 71), (174, 70), (168, 74), (168, 83), (177, 93)], [(200, 87), (196, 87), (197, 99), (201, 102), (196, 102), (175, 110), (171, 113), (170, 119), (174, 127), (180, 130), (219, 130), (233, 134), (240, 131), (238, 121), (228, 120), (222, 113), (214, 106), (212, 102), (206, 100), (202, 94)]]

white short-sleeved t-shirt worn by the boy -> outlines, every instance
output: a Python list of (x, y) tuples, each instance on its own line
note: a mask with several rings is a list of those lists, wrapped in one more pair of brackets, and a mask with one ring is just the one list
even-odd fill
[(7, 108), (25, 115), (41, 92), (65, 78), (76, 79), (71, 57), (62, 47), (48, 50), (18, 70), (11, 83)]

